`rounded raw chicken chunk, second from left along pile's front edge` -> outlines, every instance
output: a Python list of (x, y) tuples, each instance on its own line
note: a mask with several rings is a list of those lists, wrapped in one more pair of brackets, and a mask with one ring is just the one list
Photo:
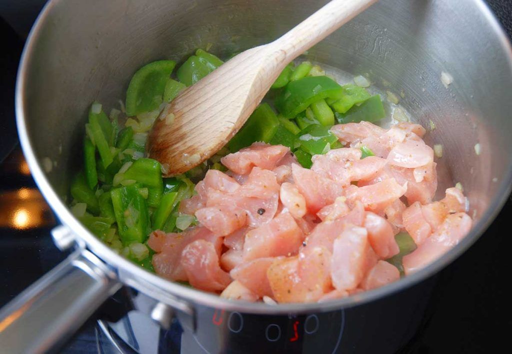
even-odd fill
[(229, 274), (221, 269), (214, 244), (205, 240), (189, 243), (181, 252), (181, 266), (188, 282), (205, 291), (220, 291), (231, 283)]

